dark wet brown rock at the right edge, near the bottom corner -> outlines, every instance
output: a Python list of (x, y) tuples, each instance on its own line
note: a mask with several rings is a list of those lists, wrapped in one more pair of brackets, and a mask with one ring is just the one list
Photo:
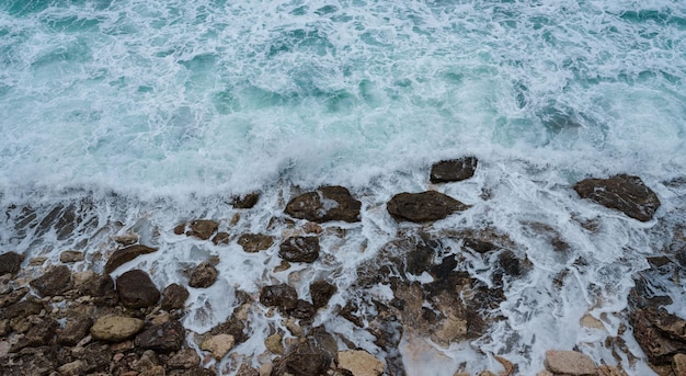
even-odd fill
[[(630, 316), (633, 337), (653, 364), (668, 364), (677, 353), (686, 352), (686, 322), (664, 310), (634, 309)], [(666, 331), (664, 330), (666, 329)]]

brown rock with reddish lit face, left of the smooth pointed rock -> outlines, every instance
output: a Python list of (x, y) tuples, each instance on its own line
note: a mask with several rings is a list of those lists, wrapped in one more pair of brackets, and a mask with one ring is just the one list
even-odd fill
[(317, 191), (291, 198), (285, 213), (294, 218), (316, 223), (343, 220), (359, 221), (362, 203), (343, 186), (321, 186)]

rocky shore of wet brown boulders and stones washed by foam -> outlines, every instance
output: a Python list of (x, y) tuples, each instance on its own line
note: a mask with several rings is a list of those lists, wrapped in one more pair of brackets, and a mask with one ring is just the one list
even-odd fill
[[(361, 264), (351, 286), (358, 294), (345, 304), (332, 304), (332, 297), (340, 293), (332, 278), (313, 281), (305, 295), (291, 283), (265, 284), (259, 294), (237, 290), (237, 308), (206, 333), (192, 332), (182, 321), (188, 289), (208, 288), (222, 277), (214, 258), (186, 270), (183, 282), (158, 286), (150, 270), (133, 269), (116, 278), (111, 276), (141, 255), (164, 252), (139, 243), (136, 233), (113, 235), (112, 247), (98, 261), (98, 267), (79, 272), (71, 265), (85, 262), (83, 250), (65, 250), (59, 263), (49, 265), (32, 258), (28, 249), (0, 250), (0, 374), (404, 375), (399, 351), (403, 340), (428, 339), (447, 347), (485, 335), (490, 326), (503, 320), (493, 312), (505, 299), (508, 283), (533, 267), (508, 233), (488, 228), (431, 230), (431, 224), (470, 208), (441, 193), (438, 184), (468, 180), (477, 168), (473, 157), (437, 162), (428, 176), (435, 190), (402, 192), (388, 201), (390, 217), (416, 225), (403, 226), (393, 241)], [(638, 176), (586, 179), (571, 190), (579, 200), (639, 221), (652, 220), (661, 206), (658, 195)], [(259, 200), (259, 194), (250, 194), (237, 197), (232, 205), (251, 210)], [(335, 224), (357, 223), (364, 215), (361, 201), (342, 186), (321, 186), (284, 204), (279, 208), (284, 215), (272, 218), (289, 228), (281, 238), (224, 231), (214, 218), (192, 219), (167, 231), (214, 246), (236, 242), (248, 253), (276, 248), (282, 263), (273, 272), (281, 272), (320, 260), (320, 239), (338, 237), (344, 241), (345, 230)], [(37, 226), (69, 236), (78, 215), (59, 213)], [(529, 227), (547, 237), (551, 249), (564, 249), (553, 229), (544, 224)], [(592, 224), (587, 227), (593, 230)], [(461, 249), (449, 249), (446, 239), (457, 241)], [(677, 233), (672, 249), (650, 258), (652, 267), (634, 276), (630, 305), (618, 312), (626, 320), (625, 330), (632, 331), (644, 354), (631, 353), (620, 337), (608, 334), (597, 345), (613, 349), (615, 365), (595, 364), (573, 349), (550, 349), (538, 375), (627, 375), (630, 371), (625, 368), (643, 356), (659, 375), (686, 375), (686, 320), (667, 312), (663, 307), (670, 298), (653, 288), (663, 286), (665, 275), (674, 288), (681, 288), (685, 246), (686, 235)], [(466, 271), (467, 253), (493, 261), (493, 284)], [(298, 273), (291, 273), (289, 281), (291, 276), (297, 281)], [(323, 309), (350, 321), (382, 351), (373, 354), (316, 323)], [(232, 352), (250, 339), (251, 317), (258, 311), (281, 316), (287, 331), (271, 328), (263, 354)], [(603, 327), (596, 318), (584, 320), (583, 326)], [(478, 375), (519, 375), (517, 364), (491, 355), (498, 366)], [(629, 363), (622, 363), (627, 358)], [(457, 369), (455, 375), (469, 374)]]

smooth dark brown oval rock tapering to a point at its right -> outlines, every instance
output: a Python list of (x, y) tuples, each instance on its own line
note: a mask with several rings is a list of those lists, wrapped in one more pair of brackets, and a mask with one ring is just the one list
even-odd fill
[(468, 205), (436, 191), (399, 193), (386, 205), (396, 220), (427, 223), (443, 219), (450, 214), (466, 210)]

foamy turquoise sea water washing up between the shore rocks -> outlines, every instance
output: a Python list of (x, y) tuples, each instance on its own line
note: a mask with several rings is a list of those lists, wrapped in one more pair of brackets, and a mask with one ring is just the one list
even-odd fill
[[(599, 343), (618, 334), (632, 274), (686, 217), (685, 80), (679, 1), (0, 0), (0, 248), (49, 262), (79, 249), (90, 263), (77, 269), (102, 267), (89, 255), (133, 231), (162, 249), (114, 276), (141, 267), (159, 286), (217, 255), (220, 278), (192, 289), (184, 321), (204, 332), (236, 308), (235, 289), (256, 294), (287, 273), (271, 273), (274, 249), (216, 248), (174, 236), (179, 223), (278, 236), (270, 219), (293, 187), (345, 185), (362, 221), (344, 226), (344, 242), (322, 239), (329, 263), (295, 266), (301, 295), (335, 273), (332, 301), (344, 304), (356, 266), (399, 229), (386, 202), (437, 189), (472, 208), (435, 230), (507, 233), (533, 270), (508, 285), (506, 320), (487, 335), (420, 353), (402, 343), (409, 374), (451, 375), (465, 362), (495, 371), (493, 354), (534, 374), (549, 349), (616, 364)], [(430, 186), (432, 162), (462, 156), (479, 158), (472, 179)], [(658, 193), (654, 220), (571, 190), (616, 173)], [(240, 210), (227, 202), (253, 191), (258, 206), (232, 224)], [(60, 232), (67, 212), (79, 220)], [(558, 289), (561, 272), (573, 277)], [(488, 282), (489, 265), (475, 261), (470, 274)], [(668, 294), (668, 310), (686, 315), (683, 290)], [(605, 329), (581, 327), (586, 314)], [(379, 354), (342, 319), (318, 320)], [(253, 318), (235, 351), (264, 351), (270, 323)], [(644, 361), (631, 369), (651, 374)]]

